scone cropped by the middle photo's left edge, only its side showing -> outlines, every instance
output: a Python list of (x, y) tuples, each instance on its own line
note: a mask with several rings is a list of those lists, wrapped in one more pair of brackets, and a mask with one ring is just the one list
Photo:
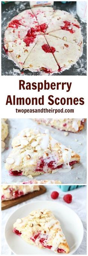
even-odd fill
[(6, 137), (8, 135), (8, 125), (5, 121), (6, 121), (6, 119), (1, 119), (1, 152), (3, 152), (5, 149), (4, 140), (6, 139)]

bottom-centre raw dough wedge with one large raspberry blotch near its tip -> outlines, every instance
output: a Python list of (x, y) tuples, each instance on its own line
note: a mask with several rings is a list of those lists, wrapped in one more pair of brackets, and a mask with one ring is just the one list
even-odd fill
[(26, 59), (23, 68), (30, 71), (43, 70), (45, 73), (55, 72), (59, 69), (43, 35), (38, 36), (37, 44)]

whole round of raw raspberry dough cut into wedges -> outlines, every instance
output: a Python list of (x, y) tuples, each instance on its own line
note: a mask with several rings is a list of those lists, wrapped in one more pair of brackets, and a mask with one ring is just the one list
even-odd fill
[(59, 73), (82, 55), (81, 27), (69, 12), (53, 7), (25, 10), (7, 24), (4, 50), (20, 69)]

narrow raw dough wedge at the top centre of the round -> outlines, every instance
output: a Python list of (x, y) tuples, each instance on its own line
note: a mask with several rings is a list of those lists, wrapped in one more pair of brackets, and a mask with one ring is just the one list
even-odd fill
[(50, 22), (54, 9), (52, 7), (35, 7), (31, 9), (37, 18), (38, 24), (40, 25), (41, 32), (45, 33), (48, 23)]

